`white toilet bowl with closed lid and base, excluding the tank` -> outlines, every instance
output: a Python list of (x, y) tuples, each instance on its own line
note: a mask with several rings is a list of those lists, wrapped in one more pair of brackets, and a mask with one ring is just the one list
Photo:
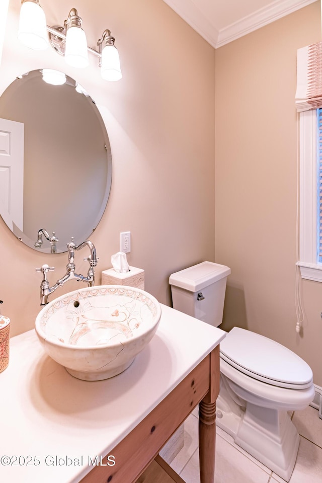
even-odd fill
[(234, 327), (220, 344), (217, 425), (286, 481), (299, 446), (288, 412), (314, 392), (310, 367), (277, 342)]

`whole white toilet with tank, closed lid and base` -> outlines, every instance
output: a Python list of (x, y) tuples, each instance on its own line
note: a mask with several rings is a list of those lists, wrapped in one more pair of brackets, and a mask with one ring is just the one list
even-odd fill
[[(219, 326), (229, 274), (212, 262), (172, 274), (173, 307)], [(220, 343), (217, 426), (286, 481), (299, 446), (287, 412), (306, 408), (313, 398), (310, 367), (281, 344), (238, 327)]]

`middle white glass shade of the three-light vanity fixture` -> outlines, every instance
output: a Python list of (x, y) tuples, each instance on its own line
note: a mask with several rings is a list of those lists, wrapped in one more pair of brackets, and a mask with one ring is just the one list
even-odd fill
[(81, 27), (69, 27), (66, 33), (65, 61), (72, 67), (87, 67), (87, 40)]

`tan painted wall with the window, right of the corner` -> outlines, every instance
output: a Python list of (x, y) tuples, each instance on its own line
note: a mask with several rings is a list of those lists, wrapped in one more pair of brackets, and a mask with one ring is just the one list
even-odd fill
[(316, 2), (216, 50), (216, 261), (231, 267), (223, 329), (284, 344), (322, 385), (322, 284), (301, 281), (295, 332), (296, 50), (321, 40)]

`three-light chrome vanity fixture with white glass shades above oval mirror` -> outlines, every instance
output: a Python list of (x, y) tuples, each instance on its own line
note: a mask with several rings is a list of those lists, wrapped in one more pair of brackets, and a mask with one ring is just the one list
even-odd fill
[(99, 59), (99, 67), (104, 79), (118, 81), (122, 78), (119, 54), (110, 30), (105, 30), (98, 40), (99, 50), (97, 51), (88, 47), (82, 19), (76, 9), (70, 10), (63, 27), (49, 27), (46, 25), (45, 14), (39, 0), (22, 0), (21, 3), (18, 38), (24, 45), (34, 50), (45, 50), (48, 46), (48, 31), (51, 46), (65, 57), (68, 65), (88, 66), (88, 52), (91, 52)]

